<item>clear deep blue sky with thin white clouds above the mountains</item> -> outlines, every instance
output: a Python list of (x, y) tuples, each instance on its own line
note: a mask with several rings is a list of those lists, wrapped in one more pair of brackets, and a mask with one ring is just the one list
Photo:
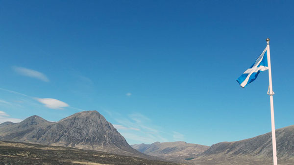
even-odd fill
[(212, 145), (294, 124), (293, 0), (0, 0), (0, 123), (96, 110), (129, 144)]

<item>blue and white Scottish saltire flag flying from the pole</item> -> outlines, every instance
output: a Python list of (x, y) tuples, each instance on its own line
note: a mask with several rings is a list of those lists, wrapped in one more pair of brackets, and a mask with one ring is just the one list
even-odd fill
[(241, 87), (245, 87), (252, 81), (254, 81), (259, 72), (268, 70), (268, 54), (267, 54), (267, 47), (261, 53), (261, 55), (257, 58), (255, 63), (247, 69), (238, 79), (238, 83)]

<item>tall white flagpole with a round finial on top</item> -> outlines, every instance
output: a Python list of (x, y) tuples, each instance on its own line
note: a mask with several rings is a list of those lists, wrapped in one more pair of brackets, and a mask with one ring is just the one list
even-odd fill
[(270, 67), (270, 39), (267, 38), (267, 54), (268, 54), (268, 66), (269, 66), (269, 91), (268, 94), (270, 95), (270, 117), (271, 117), (271, 137), (272, 137), (272, 157), (273, 157), (273, 165), (278, 165), (277, 161), (277, 147), (275, 141), (275, 128), (274, 128), (274, 114), (273, 114), (273, 98), (272, 95), (272, 82), (271, 82), (271, 67)]

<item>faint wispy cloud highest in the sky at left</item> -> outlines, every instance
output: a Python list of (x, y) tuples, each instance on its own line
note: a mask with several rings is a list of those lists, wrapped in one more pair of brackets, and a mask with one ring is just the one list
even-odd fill
[(39, 71), (30, 70), (30, 69), (23, 68), (23, 67), (13, 67), (13, 69), (14, 69), (14, 71), (16, 71), (17, 73), (19, 73), (21, 75), (33, 77), (33, 78), (37, 78), (37, 79), (45, 81), (45, 82), (49, 82), (49, 79), (47, 78), (47, 76)]

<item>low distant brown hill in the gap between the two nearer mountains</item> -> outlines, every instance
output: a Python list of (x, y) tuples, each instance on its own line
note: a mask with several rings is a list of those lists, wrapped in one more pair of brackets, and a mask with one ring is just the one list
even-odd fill
[(152, 144), (142, 143), (131, 146), (144, 154), (175, 162), (195, 158), (196, 155), (199, 155), (209, 148), (209, 146), (206, 145), (192, 144), (184, 141), (154, 142)]

